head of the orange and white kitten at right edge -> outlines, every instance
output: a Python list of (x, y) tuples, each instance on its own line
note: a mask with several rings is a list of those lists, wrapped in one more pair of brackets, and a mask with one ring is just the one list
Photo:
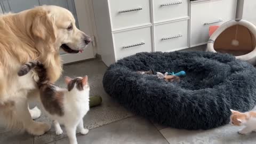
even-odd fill
[(246, 122), (246, 114), (240, 113), (239, 111), (231, 110), (230, 124), (240, 126)]

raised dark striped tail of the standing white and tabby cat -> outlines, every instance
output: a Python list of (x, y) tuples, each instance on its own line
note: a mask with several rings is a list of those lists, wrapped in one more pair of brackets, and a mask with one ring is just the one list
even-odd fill
[(24, 76), (29, 73), (31, 69), (34, 69), (39, 77), (37, 82), (38, 87), (40, 88), (43, 84), (49, 82), (49, 78), (47, 77), (47, 71), (44, 67), (43, 63), (37, 60), (32, 60), (30, 62), (25, 63), (21, 66), (20, 70), (18, 71), (18, 76)]

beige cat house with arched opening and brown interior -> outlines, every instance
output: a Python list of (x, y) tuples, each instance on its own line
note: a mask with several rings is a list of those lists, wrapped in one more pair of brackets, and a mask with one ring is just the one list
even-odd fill
[(241, 19), (223, 23), (211, 35), (207, 51), (230, 53), (256, 65), (256, 26)]

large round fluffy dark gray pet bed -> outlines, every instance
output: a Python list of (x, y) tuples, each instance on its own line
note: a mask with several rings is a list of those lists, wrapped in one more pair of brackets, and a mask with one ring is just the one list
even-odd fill
[[(165, 82), (137, 70), (186, 71), (180, 82)], [(111, 65), (106, 92), (126, 108), (179, 129), (211, 129), (229, 122), (230, 110), (247, 111), (256, 101), (256, 70), (228, 54), (138, 53)]]

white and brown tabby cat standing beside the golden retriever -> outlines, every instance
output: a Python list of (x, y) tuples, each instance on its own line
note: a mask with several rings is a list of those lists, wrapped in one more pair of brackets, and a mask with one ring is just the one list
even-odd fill
[(23, 65), (18, 72), (19, 76), (26, 75), (35, 68), (39, 80), (37, 85), (40, 91), (41, 102), (46, 113), (53, 119), (56, 134), (62, 134), (60, 124), (66, 128), (71, 144), (76, 144), (76, 129), (81, 134), (87, 134), (84, 129), (83, 117), (89, 111), (89, 83), (87, 76), (71, 79), (65, 77), (67, 89), (49, 82), (47, 71), (39, 61), (30, 61)]

